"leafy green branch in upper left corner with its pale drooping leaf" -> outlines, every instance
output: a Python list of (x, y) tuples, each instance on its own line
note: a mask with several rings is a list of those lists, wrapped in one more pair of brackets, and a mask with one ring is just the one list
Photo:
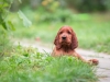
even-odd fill
[[(10, 7), (12, 4), (13, 0), (1, 0), (0, 2), (0, 24), (4, 30), (12, 30), (14, 31), (14, 25), (11, 22), (11, 20), (8, 20), (7, 16), (10, 14)], [(19, 0), (21, 2), (21, 0)], [(32, 25), (31, 21), (28, 20), (28, 17), (22, 13), (22, 11), (18, 12), (20, 19), (23, 20), (23, 25), (29, 27)]]

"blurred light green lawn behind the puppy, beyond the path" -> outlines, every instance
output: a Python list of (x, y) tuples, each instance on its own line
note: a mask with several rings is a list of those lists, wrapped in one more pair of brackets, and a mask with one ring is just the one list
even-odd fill
[(77, 34), (79, 48), (110, 54), (110, 17), (107, 14), (74, 14), (70, 12), (66, 15), (63, 12), (55, 13), (56, 15), (48, 14), (51, 16), (47, 19), (61, 17), (62, 14), (64, 16), (69, 15), (67, 16), (69, 19), (63, 23), (59, 21), (61, 19), (57, 21), (42, 21), (47, 13), (45, 15), (37, 11), (25, 11), (24, 13), (33, 23), (31, 27), (23, 27), (20, 20), (15, 17), (16, 15), (9, 16), (9, 19), (13, 17), (12, 22), (15, 24), (16, 31), (13, 32), (15, 38), (40, 38), (41, 42), (53, 44), (59, 27), (69, 25)]

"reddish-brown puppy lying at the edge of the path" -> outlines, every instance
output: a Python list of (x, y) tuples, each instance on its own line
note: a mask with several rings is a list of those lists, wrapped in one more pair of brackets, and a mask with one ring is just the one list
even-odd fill
[(86, 60), (84, 59), (79, 54), (75, 51), (75, 48), (78, 47), (78, 42), (75, 32), (70, 26), (63, 26), (54, 40), (55, 48), (52, 52), (52, 56), (74, 56), (77, 57), (78, 59), (81, 59), (84, 62), (92, 63), (92, 65), (98, 65), (97, 59), (90, 59)]

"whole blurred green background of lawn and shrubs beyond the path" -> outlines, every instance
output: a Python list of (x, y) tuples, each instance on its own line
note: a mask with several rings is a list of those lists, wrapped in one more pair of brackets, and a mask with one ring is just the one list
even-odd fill
[(13, 39), (53, 44), (63, 25), (74, 28), (79, 48), (110, 54), (110, 0), (0, 0), (1, 54)]

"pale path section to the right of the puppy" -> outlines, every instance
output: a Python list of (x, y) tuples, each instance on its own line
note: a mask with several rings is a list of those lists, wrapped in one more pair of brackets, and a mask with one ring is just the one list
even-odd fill
[(77, 49), (77, 52), (85, 58), (97, 58), (99, 65), (97, 66), (97, 74), (99, 77), (98, 82), (110, 82), (110, 55), (94, 52), (84, 49)]

